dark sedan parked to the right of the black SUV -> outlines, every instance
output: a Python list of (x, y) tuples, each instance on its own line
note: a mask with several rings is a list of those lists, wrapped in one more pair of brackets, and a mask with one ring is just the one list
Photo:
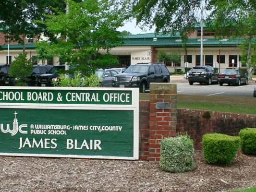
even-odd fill
[(224, 72), (218, 76), (219, 85), (223, 84), (236, 84), (240, 86), (241, 84), (248, 84), (248, 79), (246, 73), (241, 72), (239, 69), (226, 69)]

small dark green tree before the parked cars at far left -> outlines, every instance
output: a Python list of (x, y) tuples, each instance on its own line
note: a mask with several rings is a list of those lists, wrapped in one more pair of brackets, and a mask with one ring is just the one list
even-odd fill
[(15, 60), (13, 60), (12, 64), (10, 65), (9, 76), (21, 80), (22, 77), (31, 74), (33, 69), (32, 59), (30, 58), (28, 60), (26, 55), (26, 53), (19, 54), (17, 57), (15, 57)]

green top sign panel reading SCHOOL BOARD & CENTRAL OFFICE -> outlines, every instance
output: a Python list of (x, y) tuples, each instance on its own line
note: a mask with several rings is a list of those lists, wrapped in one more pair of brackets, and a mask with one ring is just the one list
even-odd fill
[(1, 89), (0, 103), (131, 105), (132, 91)]

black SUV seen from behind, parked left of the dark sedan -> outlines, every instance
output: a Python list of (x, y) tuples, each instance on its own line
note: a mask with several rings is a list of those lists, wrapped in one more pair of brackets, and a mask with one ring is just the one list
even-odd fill
[(218, 83), (218, 72), (209, 66), (195, 66), (188, 73), (188, 82), (190, 85), (198, 82), (200, 84), (207, 83), (210, 85), (212, 82)]

